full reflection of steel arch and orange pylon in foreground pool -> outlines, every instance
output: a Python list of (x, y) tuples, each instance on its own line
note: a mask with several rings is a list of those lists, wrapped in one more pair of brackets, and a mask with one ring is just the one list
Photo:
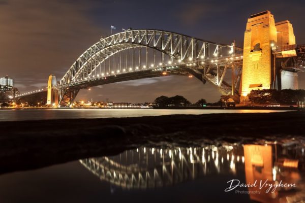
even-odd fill
[[(170, 149), (141, 147), (117, 156), (82, 159), (80, 163), (101, 180), (121, 188), (158, 188), (205, 176), (238, 175), (246, 176), (244, 179), (247, 184), (257, 180), (256, 187), (236, 188), (253, 192), (250, 193), (252, 200), (295, 202), (305, 200), (304, 157), (304, 145), (296, 146), (290, 141), (281, 145)], [(224, 178), (224, 182), (229, 180), (231, 178)], [(260, 181), (268, 184), (279, 184), (282, 181), (282, 184), (295, 184), (296, 187), (278, 187), (275, 192), (266, 192), (267, 187), (260, 188)], [(224, 192), (224, 189), (219, 188), (219, 192)]]

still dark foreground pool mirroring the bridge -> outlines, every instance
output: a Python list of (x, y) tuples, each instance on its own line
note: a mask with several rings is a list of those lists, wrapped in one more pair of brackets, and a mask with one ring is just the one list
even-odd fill
[[(140, 147), (116, 156), (1, 175), (0, 200), (300, 202), (305, 200), (304, 158), (304, 140), (221, 147)], [(233, 186), (238, 181), (254, 186), (226, 192), (232, 180)], [(280, 186), (273, 191), (276, 184)]]

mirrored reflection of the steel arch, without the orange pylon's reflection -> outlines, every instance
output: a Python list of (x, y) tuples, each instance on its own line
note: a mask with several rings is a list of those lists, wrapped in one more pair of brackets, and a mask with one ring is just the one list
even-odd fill
[(172, 186), (215, 174), (242, 171), (242, 147), (141, 147), (113, 157), (81, 159), (90, 172), (112, 185), (126, 189)]

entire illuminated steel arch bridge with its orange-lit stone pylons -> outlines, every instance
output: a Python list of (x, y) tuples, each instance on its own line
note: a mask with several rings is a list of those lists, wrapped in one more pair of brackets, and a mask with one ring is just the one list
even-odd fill
[(235, 42), (225, 45), (164, 30), (129, 29), (101, 38), (59, 82), (51, 75), (47, 104), (71, 106), (80, 89), (169, 75), (194, 76), (224, 95), (246, 96), (251, 89), (297, 89), (297, 72), (304, 71), (304, 58), (305, 46), (295, 44), (291, 23), (275, 23), (269, 11), (248, 19), (243, 48)]

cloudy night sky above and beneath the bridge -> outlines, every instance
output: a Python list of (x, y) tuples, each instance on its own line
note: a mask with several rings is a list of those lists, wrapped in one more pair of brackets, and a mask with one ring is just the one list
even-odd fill
[[(45, 87), (50, 74), (60, 80), (72, 63), (110, 25), (164, 29), (242, 47), (250, 15), (270, 10), (276, 22), (290, 20), (297, 44), (305, 44), (305, 1), (98, 1), (0, 0), (0, 76), (9, 75), (22, 92)], [(305, 89), (305, 74), (299, 74)], [(78, 99), (144, 102), (176, 94), (195, 102), (216, 101), (216, 87), (196, 78), (169, 76), (120, 82), (82, 90)]]

